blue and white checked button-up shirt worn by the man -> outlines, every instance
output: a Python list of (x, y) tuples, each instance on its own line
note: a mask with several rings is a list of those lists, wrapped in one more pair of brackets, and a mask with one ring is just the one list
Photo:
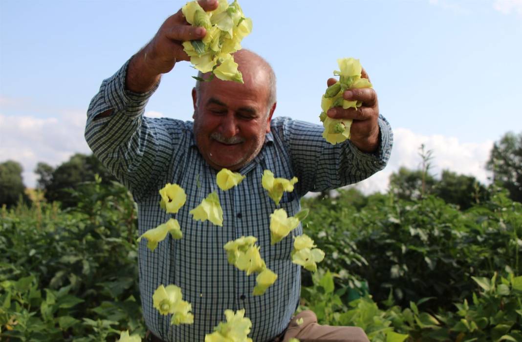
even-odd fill
[[(270, 214), (277, 208), (261, 185), (263, 170), (276, 177), (297, 176), (292, 193), (284, 193), (280, 207), (288, 216), (300, 210), (299, 199), (318, 192), (359, 182), (386, 165), (392, 148), (392, 132), (379, 117), (381, 147), (374, 154), (359, 151), (350, 141), (330, 145), (323, 127), (288, 117), (271, 121), (271, 132), (259, 154), (239, 172), (241, 184), (223, 192), (216, 184), (217, 171), (199, 154), (193, 123), (144, 117), (153, 90), (137, 94), (125, 90), (128, 62), (102, 82), (90, 103), (85, 137), (94, 154), (132, 192), (138, 204), (139, 234), (169, 218), (180, 222), (183, 239), (168, 234), (153, 252), (146, 239), (139, 244), (139, 285), (145, 322), (165, 341), (203, 341), (224, 310), (245, 309), (252, 321), (249, 335), (267, 341), (286, 329), (300, 296), (301, 266), (291, 262), (293, 237), (301, 225), (276, 245), (270, 245)], [(94, 120), (113, 109), (111, 116)], [(165, 183), (184, 188), (187, 201), (179, 213), (167, 214), (159, 206), (158, 190)], [(217, 191), (223, 208), (223, 227), (194, 221), (188, 212), (210, 192)], [(255, 275), (246, 276), (227, 262), (223, 245), (242, 235), (254, 235), (266, 265), (278, 278), (263, 296), (252, 296)], [(327, 256), (328, 257), (328, 256)], [(175, 284), (192, 304), (194, 324), (170, 325), (171, 315), (153, 308), (152, 293), (159, 285)]]

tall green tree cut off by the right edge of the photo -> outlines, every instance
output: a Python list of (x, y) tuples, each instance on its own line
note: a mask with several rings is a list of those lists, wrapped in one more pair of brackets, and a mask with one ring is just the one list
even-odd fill
[(509, 191), (513, 201), (522, 202), (522, 132), (507, 132), (491, 149), (486, 168), (493, 181)]

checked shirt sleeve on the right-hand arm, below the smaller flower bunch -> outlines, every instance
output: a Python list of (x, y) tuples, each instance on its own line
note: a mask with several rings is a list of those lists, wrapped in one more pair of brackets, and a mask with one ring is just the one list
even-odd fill
[(322, 136), (323, 126), (286, 119), (282, 135), (290, 151), (292, 168), (299, 182), (298, 194), (326, 191), (360, 182), (386, 166), (393, 145), (388, 121), (378, 118), (379, 147), (376, 152), (359, 150), (350, 140), (331, 145)]

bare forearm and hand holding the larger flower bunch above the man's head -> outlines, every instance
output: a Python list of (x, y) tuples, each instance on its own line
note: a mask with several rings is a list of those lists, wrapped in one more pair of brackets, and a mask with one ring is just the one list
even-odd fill
[[(218, 7), (218, 0), (199, 0), (206, 11)], [(182, 43), (187, 40), (203, 39), (203, 27), (190, 25), (181, 9), (163, 22), (156, 36), (133, 56), (127, 70), (125, 86), (134, 92), (147, 92), (159, 81), (161, 74), (168, 73), (176, 61), (189, 61)]]

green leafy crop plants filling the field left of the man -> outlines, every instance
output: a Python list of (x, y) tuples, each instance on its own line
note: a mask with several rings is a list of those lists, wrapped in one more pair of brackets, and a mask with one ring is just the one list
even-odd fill
[(0, 326), (10, 341), (141, 336), (136, 209), (118, 183), (84, 183), (76, 208), (37, 203), (0, 218)]

